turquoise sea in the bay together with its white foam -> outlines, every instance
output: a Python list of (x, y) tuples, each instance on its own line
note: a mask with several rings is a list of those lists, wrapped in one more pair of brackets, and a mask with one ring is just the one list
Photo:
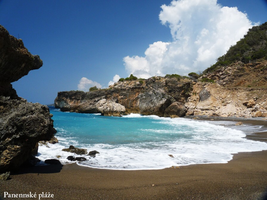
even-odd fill
[[(116, 170), (163, 169), (172, 166), (227, 163), (238, 152), (261, 151), (267, 143), (249, 140), (246, 134), (267, 131), (266, 126), (233, 121), (198, 121), (130, 114), (123, 117), (61, 112), (53, 114), (58, 143), (39, 146), (37, 157), (58, 159), (62, 164), (85, 157), (78, 165)], [(96, 157), (62, 151), (73, 145), (98, 151)]]

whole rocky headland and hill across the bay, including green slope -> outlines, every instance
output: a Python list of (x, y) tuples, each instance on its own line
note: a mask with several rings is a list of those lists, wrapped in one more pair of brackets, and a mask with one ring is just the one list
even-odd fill
[[(140, 113), (161, 117), (267, 117), (266, 59), (267, 22), (249, 29), (201, 77), (190, 73), (193, 80), (180, 79), (174, 74), (117, 82), (105, 90), (59, 92), (55, 106), (62, 111), (112, 115), (110, 110), (116, 110), (114, 106), (119, 104), (122, 108), (113, 113), (116, 116)], [(103, 99), (109, 101), (106, 111), (100, 106)]]

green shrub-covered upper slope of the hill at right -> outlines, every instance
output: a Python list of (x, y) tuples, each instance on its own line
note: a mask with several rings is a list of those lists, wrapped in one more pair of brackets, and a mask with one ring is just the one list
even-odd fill
[(267, 60), (267, 22), (260, 26), (253, 26), (244, 38), (231, 46), (226, 54), (218, 57), (217, 62), (203, 71), (207, 74), (215, 71), (219, 66), (227, 66), (233, 62), (249, 63), (257, 59)]

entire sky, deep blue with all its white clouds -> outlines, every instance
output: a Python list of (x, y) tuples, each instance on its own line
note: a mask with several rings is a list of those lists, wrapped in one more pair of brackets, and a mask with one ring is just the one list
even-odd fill
[(0, 0), (0, 24), (44, 63), (13, 88), (41, 104), (130, 74), (204, 71), (266, 13), (266, 0)]

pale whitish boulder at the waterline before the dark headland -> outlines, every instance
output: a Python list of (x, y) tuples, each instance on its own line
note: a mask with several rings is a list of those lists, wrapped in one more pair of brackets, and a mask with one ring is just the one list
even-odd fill
[(106, 99), (101, 99), (96, 103), (97, 111), (105, 116), (121, 117), (125, 114), (125, 107), (121, 104)]

